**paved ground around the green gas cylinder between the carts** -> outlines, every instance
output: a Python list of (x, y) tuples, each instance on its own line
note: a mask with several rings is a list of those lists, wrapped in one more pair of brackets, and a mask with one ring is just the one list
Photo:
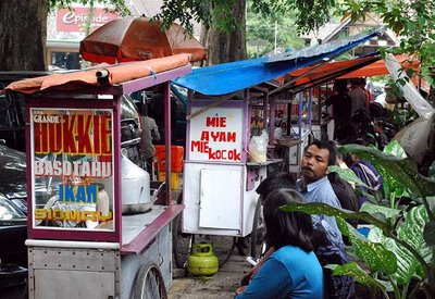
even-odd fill
[[(208, 237), (207, 242), (213, 242), (214, 249), (221, 262), (228, 256), (233, 238), (231, 237)], [(175, 275), (184, 277), (174, 278), (169, 290), (170, 299), (200, 299), (200, 298), (234, 298), (235, 290), (239, 286), (244, 271), (249, 267), (245, 257), (238, 254), (234, 248), (228, 261), (220, 267), (212, 278), (199, 279), (186, 275), (183, 270), (175, 270)]]

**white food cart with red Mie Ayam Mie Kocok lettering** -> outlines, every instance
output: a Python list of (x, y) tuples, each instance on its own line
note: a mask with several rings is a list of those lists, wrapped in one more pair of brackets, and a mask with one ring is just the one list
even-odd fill
[[(250, 235), (250, 254), (260, 256), (264, 227), (256, 189), (266, 177), (268, 166), (282, 160), (268, 158), (266, 140), (263, 159), (250, 152), (249, 142), (260, 127), (265, 129), (273, 110), (270, 104), (259, 86), (223, 97), (189, 94), (183, 198), (178, 200), (185, 210), (175, 222), (173, 241), (179, 267), (195, 235), (231, 236), (234, 241)], [(258, 117), (264, 120), (260, 126)]]

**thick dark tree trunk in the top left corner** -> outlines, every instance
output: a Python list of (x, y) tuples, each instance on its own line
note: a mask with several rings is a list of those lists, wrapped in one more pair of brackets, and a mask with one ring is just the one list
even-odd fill
[(0, 71), (45, 71), (48, 0), (0, 0)]

